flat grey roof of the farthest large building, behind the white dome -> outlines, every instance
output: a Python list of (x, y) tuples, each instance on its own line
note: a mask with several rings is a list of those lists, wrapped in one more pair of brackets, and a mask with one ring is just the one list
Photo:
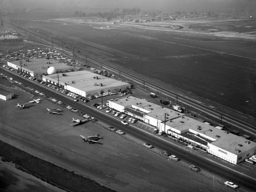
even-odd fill
[[(50, 62), (50, 63), (49, 63)], [(20, 66), (20, 61), (11, 61), (14, 65)], [(39, 59), (29, 59), (29, 61), (22, 61), (22, 68), (27, 70), (31, 70), (34, 74), (43, 74), (47, 73), (47, 69), (49, 67), (55, 67), (57, 71), (65, 71), (71, 70), (73, 67), (65, 65), (64, 63), (60, 63), (54, 61), (52, 59), (39, 58)]]

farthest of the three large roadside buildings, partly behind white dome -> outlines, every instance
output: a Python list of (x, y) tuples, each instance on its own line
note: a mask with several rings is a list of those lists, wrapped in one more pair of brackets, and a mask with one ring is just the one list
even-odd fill
[(56, 73), (73, 71), (73, 67), (71, 66), (46, 58), (15, 60), (7, 62), (7, 65), (33, 77), (40, 77), (41, 75), (47, 74), (47, 70), (50, 67), (54, 67)]

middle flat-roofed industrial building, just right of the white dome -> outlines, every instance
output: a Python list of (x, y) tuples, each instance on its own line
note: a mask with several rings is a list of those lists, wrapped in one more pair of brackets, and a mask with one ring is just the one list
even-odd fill
[(131, 84), (89, 71), (43, 75), (42, 80), (83, 97), (131, 89)]

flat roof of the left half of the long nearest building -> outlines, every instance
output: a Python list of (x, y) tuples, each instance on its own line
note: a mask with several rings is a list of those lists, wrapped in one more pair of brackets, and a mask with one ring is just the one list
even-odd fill
[(165, 120), (165, 113), (166, 113), (166, 120), (175, 119), (177, 117), (184, 116), (184, 114), (182, 113), (176, 112), (174, 110), (170, 110), (168, 108), (164, 108), (163, 106), (160, 106), (158, 104), (154, 104), (133, 96), (120, 98), (114, 102), (125, 106), (125, 109), (126, 108), (138, 109), (140, 112), (144, 112), (147, 116), (153, 117), (155, 119), (159, 119), (161, 121)]

